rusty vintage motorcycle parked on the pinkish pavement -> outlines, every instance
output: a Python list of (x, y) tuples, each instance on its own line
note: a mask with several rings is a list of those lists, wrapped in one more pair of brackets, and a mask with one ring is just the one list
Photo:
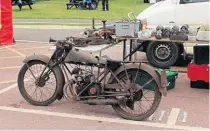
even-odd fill
[[(25, 58), (18, 75), (19, 91), (32, 105), (47, 106), (71, 98), (89, 105), (111, 105), (122, 118), (144, 120), (156, 111), (162, 95), (166, 96), (165, 71), (157, 73), (140, 62), (94, 56), (76, 48), (70, 37), (50, 38), (49, 42), (56, 47), (52, 56), (34, 54)], [(68, 67), (71, 65), (75, 67)], [(47, 97), (44, 91), (51, 95)]]

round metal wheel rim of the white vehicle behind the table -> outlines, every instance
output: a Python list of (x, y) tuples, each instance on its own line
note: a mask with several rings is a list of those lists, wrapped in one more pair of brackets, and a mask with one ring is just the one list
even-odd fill
[(172, 49), (168, 44), (158, 44), (155, 48), (155, 58), (159, 61), (170, 60), (172, 55)]

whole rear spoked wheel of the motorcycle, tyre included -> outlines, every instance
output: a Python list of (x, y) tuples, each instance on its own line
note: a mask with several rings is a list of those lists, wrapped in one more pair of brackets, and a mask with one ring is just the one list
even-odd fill
[(143, 70), (136, 71), (136, 69), (127, 71), (127, 75), (122, 72), (117, 77), (120, 82), (132, 82), (131, 88), (134, 89), (134, 93), (133, 97), (125, 98), (121, 104), (113, 105), (116, 113), (125, 119), (139, 121), (151, 116), (161, 100), (161, 93), (153, 77)]

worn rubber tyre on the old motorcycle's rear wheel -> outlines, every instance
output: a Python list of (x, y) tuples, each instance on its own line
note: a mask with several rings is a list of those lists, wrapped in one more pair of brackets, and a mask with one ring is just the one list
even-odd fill
[[(123, 78), (123, 76), (126, 76), (127, 74), (136, 74), (136, 69), (131, 69), (131, 70), (127, 70), (127, 73), (125, 73), (124, 71), (121, 72), (119, 75), (117, 75), (117, 78)], [(146, 76), (147, 78), (153, 78), (149, 73), (143, 71), (143, 70), (140, 70), (139, 69), (139, 72), (141, 74), (143, 74), (144, 76)], [(146, 78), (145, 77), (145, 78)], [(142, 75), (139, 79), (142, 78)], [(139, 80), (138, 79), (138, 80)], [(139, 82), (139, 81), (138, 81)], [(112, 83), (118, 83), (116, 80), (114, 80)], [(146, 83), (146, 82), (145, 82)], [(145, 84), (144, 83), (144, 84)], [(154, 100), (153, 100), (153, 104), (152, 106), (143, 114), (132, 114), (130, 113), (130, 111), (125, 111), (125, 109), (123, 108), (123, 106), (125, 106), (126, 104), (117, 104), (117, 105), (112, 105), (113, 109), (115, 110), (115, 112), (121, 116), (122, 118), (124, 119), (128, 119), (128, 120), (136, 120), (136, 121), (141, 121), (141, 120), (144, 120), (148, 117), (150, 117), (156, 110), (157, 108), (159, 107), (159, 104), (160, 104), (160, 101), (161, 101), (161, 97), (162, 97), (162, 94), (161, 92), (159, 91), (158, 89), (158, 85), (157, 83), (153, 80), (153, 85), (154, 85), (154, 93), (155, 93), (155, 97), (154, 97)], [(142, 85), (144, 85), (142, 84)], [(140, 85), (140, 86), (142, 86)], [(144, 89), (143, 89), (144, 90)], [(145, 93), (146, 94), (146, 93)], [(143, 98), (143, 97), (142, 97)], [(142, 98), (141, 98), (141, 101), (142, 101)], [(146, 99), (146, 98), (145, 98)]]

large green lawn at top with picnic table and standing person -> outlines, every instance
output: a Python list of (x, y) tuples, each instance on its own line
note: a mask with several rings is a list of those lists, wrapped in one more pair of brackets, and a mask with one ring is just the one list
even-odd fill
[(102, 12), (101, 2), (97, 10), (80, 10), (73, 7), (66, 9), (69, 0), (50, 0), (37, 2), (32, 5), (32, 10), (28, 6), (23, 6), (22, 11), (18, 11), (17, 6), (13, 6), (13, 18), (18, 19), (121, 19), (127, 17), (129, 12), (138, 15), (150, 4), (143, 3), (143, 0), (109, 0), (110, 11)]

